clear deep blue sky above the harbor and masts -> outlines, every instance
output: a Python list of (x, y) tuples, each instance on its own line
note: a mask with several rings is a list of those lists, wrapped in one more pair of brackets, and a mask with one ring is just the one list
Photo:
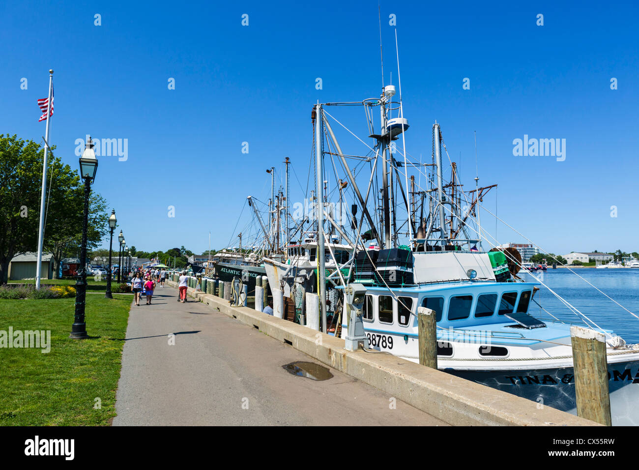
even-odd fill
[[(429, 158), (437, 120), (472, 186), (477, 131), (480, 182), (498, 184), (486, 208), (555, 253), (639, 251), (636, 3), (382, 2), (385, 82), (392, 73), (396, 84), (390, 14), (411, 155)], [(289, 157), (305, 187), (317, 100), (380, 93), (379, 35), (373, 1), (3, 3), (0, 133), (40, 140), (36, 100), (53, 68), (56, 155), (77, 168), (76, 139), (128, 139), (127, 161), (98, 157), (94, 185), (128, 244), (201, 253), (210, 231), (219, 249), (246, 196), (268, 199), (266, 168), (282, 178)], [(359, 114), (349, 123), (366, 133)], [(566, 139), (566, 160), (515, 157), (512, 141), (525, 134)], [(304, 200), (295, 176), (291, 191)], [(495, 235), (494, 220), (482, 221)], [(497, 239), (524, 241), (501, 225)]]

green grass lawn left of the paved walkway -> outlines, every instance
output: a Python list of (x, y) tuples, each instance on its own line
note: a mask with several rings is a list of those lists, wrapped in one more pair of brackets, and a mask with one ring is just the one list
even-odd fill
[[(129, 295), (87, 295), (91, 337), (72, 340), (75, 299), (0, 299), (0, 330), (50, 330), (50, 352), (0, 348), (0, 426), (104, 426), (116, 389)], [(100, 398), (100, 409), (94, 409)]]

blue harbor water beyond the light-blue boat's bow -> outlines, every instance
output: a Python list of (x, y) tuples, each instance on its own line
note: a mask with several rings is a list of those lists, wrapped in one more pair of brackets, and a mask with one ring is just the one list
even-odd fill
[[(639, 269), (573, 269), (583, 279), (599, 288), (606, 295), (629, 311), (639, 316)], [(558, 268), (547, 271), (537, 271), (533, 274), (521, 274), (526, 281), (534, 281), (535, 276), (545, 285), (566, 299), (574, 308), (578, 309), (603, 329), (612, 329), (627, 343), (639, 343), (639, 318), (633, 317), (626, 310), (605, 297), (601, 292), (588, 285), (583, 279), (573, 274), (569, 269)], [(564, 306), (548, 288), (539, 286), (541, 290), (535, 294), (534, 300), (560, 320), (573, 324), (582, 324), (580, 317)], [(533, 316), (549, 318), (534, 302), (528, 311)]]

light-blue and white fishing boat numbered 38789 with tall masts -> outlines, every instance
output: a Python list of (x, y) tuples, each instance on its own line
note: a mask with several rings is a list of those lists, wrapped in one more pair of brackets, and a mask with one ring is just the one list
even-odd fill
[[(351, 283), (364, 286), (362, 324), (366, 347), (414, 362), (419, 361), (418, 308), (431, 309), (436, 315), (440, 370), (575, 413), (571, 324), (560, 321), (537, 302), (535, 292), (540, 286), (545, 286), (586, 327), (605, 335), (613, 424), (639, 425), (639, 408), (633, 404), (639, 398), (639, 345), (627, 345), (612, 329), (599, 327), (589, 316), (558, 296), (542, 278), (530, 274), (534, 281), (527, 281), (518, 275), (522, 269), (523, 272), (531, 271), (521, 263), (516, 249), (497, 248), (502, 244), (488, 234), (479, 218), (480, 207), (482, 211), (489, 212), (481, 205), (482, 198), (496, 185), (479, 187), (479, 177), (476, 176), (475, 189), (463, 190), (456, 164), (450, 161), (437, 122), (433, 125), (433, 161), (429, 164), (433, 173), (420, 175), (426, 181), (426, 187), (420, 188), (415, 178), (410, 178), (409, 188), (405, 146), (403, 152), (399, 152), (392, 145), (400, 134), (404, 138), (403, 134), (408, 129), (408, 121), (403, 118), (401, 97), (399, 106), (392, 101), (394, 92), (394, 87), (387, 86), (379, 98), (314, 106), (316, 174), (323, 174), (321, 165), (327, 154), (331, 158), (339, 157), (344, 173), (349, 177), (353, 198), (362, 208), (360, 222), (353, 221), (348, 240), (348, 245), (353, 248), (353, 258), (343, 264), (333, 256), (320, 256), (318, 260), (333, 262), (335, 272), (343, 272), (344, 269), (348, 272), (338, 279), (334, 274), (325, 274), (324, 263), (314, 267), (310, 260), (304, 260), (309, 264), (306, 269), (318, 268), (320, 301), (325, 298), (323, 289), (329, 278), (341, 281), (342, 287)], [(330, 119), (337, 120), (325, 111), (329, 106), (358, 105), (365, 108), (369, 137), (374, 139), (371, 152), (364, 155), (369, 158), (372, 168), (367, 182), (369, 190), (374, 182), (381, 179), (380, 204), (374, 201), (374, 208), (370, 210), (367, 208), (370, 191), (366, 192), (366, 196), (359, 191), (330, 126)], [(381, 116), (378, 132), (373, 129), (372, 108), (377, 108)], [(398, 121), (389, 125), (389, 114), (393, 110), (399, 111), (401, 125), (397, 125)], [(344, 126), (342, 121), (340, 123)], [(327, 139), (326, 145), (324, 138)], [(449, 181), (445, 181), (443, 176), (442, 147), (450, 163)], [(330, 148), (332, 152), (325, 152), (321, 150), (323, 148)], [(349, 153), (351, 158), (357, 155), (356, 151)], [(398, 162), (393, 153), (403, 155), (404, 163)], [(425, 168), (425, 165), (419, 167), (417, 162), (412, 162), (411, 166), (419, 170)], [(398, 168), (404, 169), (403, 175)], [(396, 177), (395, 183), (393, 176)], [(321, 185), (316, 182), (317, 194), (321, 194)], [(400, 191), (400, 194), (395, 191)], [(326, 204), (326, 201), (323, 202)], [(379, 214), (375, 210), (379, 210)], [(323, 230), (323, 217), (329, 221), (330, 217), (326, 210), (317, 212), (317, 243), (306, 244), (304, 249), (312, 246), (321, 253), (326, 247), (330, 252), (330, 243), (325, 241), (328, 239), (327, 231)], [(497, 215), (491, 215), (501, 220)], [(369, 223), (368, 227), (364, 226), (364, 221)], [(364, 231), (365, 228), (368, 230)], [(367, 249), (366, 240), (363, 234), (360, 235), (362, 231), (371, 234), (380, 249)], [(406, 240), (403, 245), (400, 244), (401, 238)], [(484, 249), (484, 245), (490, 248)], [(304, 256), (307, 256), (306, 252)], [(265, 267), (270, 279), (277, 276), (276, 281), (286, 278), (280, 270), (293, 273), (289, 280), (294, 283), (298, 271), (293, 270), (300, 265), (299, 262), (298, 259), (286, 265), (266, 259)], [(545, 267), (544, 264), (538, 269)], [(286, 289), (286, 286), (283, 288)], [(346, 296), (343, 302), (344, 311), (348, 311)], [(534, 306), (539, 306), (542, 315), (537, 315)], [(325, 319), (326, 315), (326, 308), (322, 305), (321, 317)], [(348, 321), (348, 316), (341, 319), (339, 336), (344, 339)], [(327, 331), (325, 320), (321, 328)]]

